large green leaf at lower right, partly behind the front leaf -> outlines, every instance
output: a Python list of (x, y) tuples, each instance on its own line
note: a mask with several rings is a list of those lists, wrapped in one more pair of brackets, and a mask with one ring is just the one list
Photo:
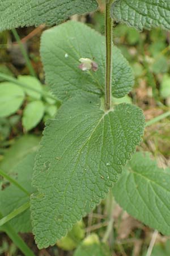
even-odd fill
[(170, 234), (170, 168), (158, 168), (150, 155), (138, 152), (113, 187), (113, 195), (131, 216)]

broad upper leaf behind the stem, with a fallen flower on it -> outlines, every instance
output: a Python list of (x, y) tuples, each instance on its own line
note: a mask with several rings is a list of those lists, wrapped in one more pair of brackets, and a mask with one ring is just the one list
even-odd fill
[[(46, 82), (60, 100), (82, 91), (104, 94), (105, 38), (85, 24), (70, 21), (46, 30), (41, 39), (41, 58)], [(79, 68), (80, 58), (94, 59), (97, 71), (82, 71)], [(124, 97), (133, 84), (128, 61), (114, 46), (113, 96)]]

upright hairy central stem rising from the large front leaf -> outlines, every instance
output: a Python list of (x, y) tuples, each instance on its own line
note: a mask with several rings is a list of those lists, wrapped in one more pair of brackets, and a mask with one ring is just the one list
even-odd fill
[(110, 14), (113, 0), (105, 3), (105, 38), (106, 38), (106, 77), (105, 77), (105, 109), (111, 109), (112, 98), (112, 18)]

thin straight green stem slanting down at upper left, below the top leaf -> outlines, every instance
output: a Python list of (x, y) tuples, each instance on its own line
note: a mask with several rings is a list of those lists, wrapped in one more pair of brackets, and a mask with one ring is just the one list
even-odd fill
[(23, 46), (23, 43), (21, 42), (20, 38), (19, 38), (19, 35), (16, 31), (16, 29), (12, 29), (12, 34), (14, 35), (15, 39), (16, 39), (16, 42), (19, 44), (20, 46), (20, 51), (22, 52), (22, 55), (25, 59), (25, 62), (27, 64), (27, 68), (29, 69), (29, 73), (31, 74), (31, 76), (35, 76), (36, 77), (36, 73), (35, 73), (35, 70), (33, 69), (32, 67), (32, 64), (31, 64), (31, 61), (29, 60), (29, 57), (28, 57), (28, 54), (27, 54), (27, 51), (25, 51), (25, 48)]

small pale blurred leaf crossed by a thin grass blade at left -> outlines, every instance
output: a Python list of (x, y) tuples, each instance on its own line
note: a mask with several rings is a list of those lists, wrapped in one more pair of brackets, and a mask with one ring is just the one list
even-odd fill
[[(29, 87), (42, 91), (42, 85), (41, 82), (36, 79), (36, 77), (33, 76), (18, 76), (18, 81), (23, 82), (23, 85), (28, 85)], [(32, 98), (35, 98), (36, 100), (40, 100), (41, 94), (37, 93), (31, 89), (24, 89), (24, 92), (28, 94), (28, 96), (31, 96)]]

